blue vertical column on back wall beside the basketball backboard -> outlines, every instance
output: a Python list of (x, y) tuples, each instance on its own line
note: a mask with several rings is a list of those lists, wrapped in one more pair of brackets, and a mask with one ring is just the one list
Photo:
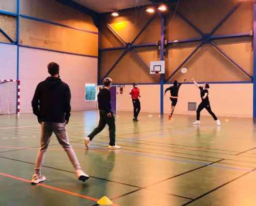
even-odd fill
[[(161, 47), (160, 47), (160, 56), (161, 61), (164, 60), (164, 26), (165, 26), (165, 19), (164, 16), (161, 16)], [(165, 74), (161, 74), (160, 79), (160, 113), (163, 114), (163, 83), (165, 79)]]

